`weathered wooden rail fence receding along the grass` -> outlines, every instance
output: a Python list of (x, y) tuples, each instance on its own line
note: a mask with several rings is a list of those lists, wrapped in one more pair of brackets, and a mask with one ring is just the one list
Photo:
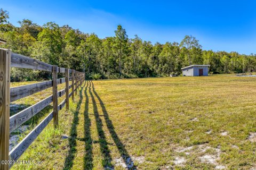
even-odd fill
[[(52, 72), (52, 80), (10, 88), (11, 67), (49, 71)], [(65, 73), (65, 78), (58, 79), (58, 73)], [(70, 85), (69, 81), (72, 81)], [(54, 128), (58, 128), (58, 111), (65, 105), (66, 109), (69, 109), (69, 97), (72, 96), (72, 100), (74, 100), (78, 87), (84, 81), (85, 73), (50, 65), (33, 58), (12, 53), (8, 49), (0, 49), (0, 160), (18, 160), (52, 118)], [(58, 91), (57, 86), (61, 83), (66, 83), (66, 87)], [(52, 96), (10, 117), (10, 103), (12, 101), (33, 95), (50, 87), (52, 87)], [(70, 88), (72, 88), (72, 91), (69, 93)], [(58, 97), (65, 94), (65, 100), (58, 105)], [(51, 103), (53, 103), (53, 111), (9, 152), (10, 133)], [(11, 165), (7, 164), (0, 165), (0, 169), (8, 169), (10, 167)]]

